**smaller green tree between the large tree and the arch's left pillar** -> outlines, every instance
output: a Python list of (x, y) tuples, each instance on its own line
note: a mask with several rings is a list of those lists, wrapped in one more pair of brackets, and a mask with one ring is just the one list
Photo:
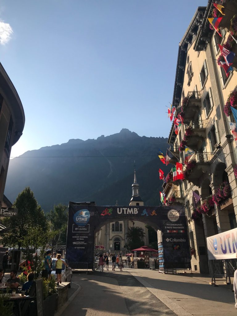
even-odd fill
[(54, 232), (52, 246), (60, 243), (66, 244), (67, 238), (67, 222), (68, 222), (68, 207), (67, 205), (54, 205), (53, 210), (47, 214), (50, 222), (50, 228)]

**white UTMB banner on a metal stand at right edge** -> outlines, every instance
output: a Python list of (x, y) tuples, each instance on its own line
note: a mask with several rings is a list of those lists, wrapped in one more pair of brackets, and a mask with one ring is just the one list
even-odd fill
[(209, 260), (234, 259), (237, 253), (237, 228), (207, 237)]

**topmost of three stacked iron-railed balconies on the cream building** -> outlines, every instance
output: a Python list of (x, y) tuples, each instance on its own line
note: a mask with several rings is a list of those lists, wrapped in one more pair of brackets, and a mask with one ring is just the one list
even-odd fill
[(201, 96), (202, 91), (189, 91), (186, 98), (182, 101), (185, 124), (197, 119), (198, 110), (201, 108)]

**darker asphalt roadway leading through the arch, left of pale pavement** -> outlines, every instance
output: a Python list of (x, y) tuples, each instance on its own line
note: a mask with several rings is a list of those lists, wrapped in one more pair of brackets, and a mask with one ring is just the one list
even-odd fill
[(73, 274), (82, 290), (62, 313), (65, 316), (175, 316), (164, 303), (125, 270)]

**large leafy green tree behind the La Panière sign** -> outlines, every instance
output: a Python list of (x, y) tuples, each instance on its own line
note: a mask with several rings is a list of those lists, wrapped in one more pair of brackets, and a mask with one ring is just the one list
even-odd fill
[(6, 226), (7, 231), (1, 235), (1, 243), (8, 247), (18, 246), (20, 249), (31, 228), (34, 230), (40, 228), (42, 232), (46, 232), (49, 227), (44, 211), (41, 210), (29, 187), (18, 194), (13, 207), (18, 209), (18, 216), (4, 218), (3, 225)]

